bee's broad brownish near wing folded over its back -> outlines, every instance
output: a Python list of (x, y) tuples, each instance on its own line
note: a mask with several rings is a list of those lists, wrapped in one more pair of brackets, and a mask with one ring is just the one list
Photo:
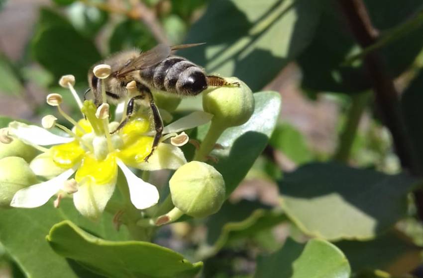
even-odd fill
[(147, 52), (142, 52), (138, 58), (118, 71), (119, 75), (135, 70), (142, 70), (154, 66), (165, 60), (171, 52), (171, 48), (165, 44), (159, 44)]

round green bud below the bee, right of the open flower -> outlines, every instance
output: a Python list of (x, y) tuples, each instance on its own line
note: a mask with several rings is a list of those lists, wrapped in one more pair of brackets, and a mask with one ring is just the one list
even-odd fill
[(225, 201), (225, 182), (214, 167), (191, 161), (173, 174), (169, 181), (176, 208), (193, 217), (216, 213)]

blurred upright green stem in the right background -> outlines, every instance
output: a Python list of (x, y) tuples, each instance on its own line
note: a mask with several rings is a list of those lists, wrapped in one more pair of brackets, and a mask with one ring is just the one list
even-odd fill
[(351, 107), (349, 108), (345, 127), (339, 137), (339, 145), (333, 156), (334, 160), (347, 162), (351, 147), (354, 142), (361, 116), (366, 109), (370, 94), (362, 93), (352, 96)]

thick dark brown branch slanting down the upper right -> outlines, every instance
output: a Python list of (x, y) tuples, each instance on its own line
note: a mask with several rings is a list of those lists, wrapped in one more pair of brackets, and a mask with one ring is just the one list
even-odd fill
[[(379, 32), (372, 25), (362, 0), (338, 0), (357, 42), (362, 48), (374, 44)], [(399, 93), (386, 70), (385, 61), (377, 51), (364, 57), (364, 65), (373, 82), (376, 103), (386, 127), (391, 131), (394, 146), (401, 164), (413, 174), (421, 174), (420, 165), (411, 147), (401, 111)]]

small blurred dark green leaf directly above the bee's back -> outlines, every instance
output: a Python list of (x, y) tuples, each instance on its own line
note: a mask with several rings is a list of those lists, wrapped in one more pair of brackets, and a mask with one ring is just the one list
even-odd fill
[(110, 36), (109, 52), (117, 52), (133, 47), (148, 50), (157, 44), (150, 30), (140, 21), (127, 19), (119, 23)]

